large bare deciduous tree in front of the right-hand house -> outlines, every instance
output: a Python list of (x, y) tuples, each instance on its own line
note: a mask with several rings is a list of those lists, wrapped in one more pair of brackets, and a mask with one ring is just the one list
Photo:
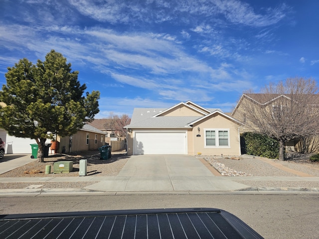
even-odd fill
[(243, 97), (237, 119), (249, 130), (276, 138), (279, 160), (285, 159), (286, 142), (319, 135), (319, 95), (315, 80), (289, 78), (266, 86), (261, 94)]

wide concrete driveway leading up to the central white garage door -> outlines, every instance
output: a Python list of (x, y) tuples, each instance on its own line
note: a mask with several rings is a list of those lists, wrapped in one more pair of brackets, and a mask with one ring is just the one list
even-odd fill
[(134, 155), (116, 177), (86, 187), (109, 192), (234, 191), (247, 188), (216, 177), (194, 156)]

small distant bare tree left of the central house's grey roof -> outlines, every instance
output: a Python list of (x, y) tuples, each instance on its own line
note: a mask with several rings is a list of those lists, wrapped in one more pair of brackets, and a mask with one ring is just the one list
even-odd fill
[(130, 124), (131, 118), (128, 115), (113, 115), (109, 116), (109, 121), (104, 125), (105, 128), (110, 128), (116, 137), (127, 137), (127, 129), (124, 128), (125, 125)]

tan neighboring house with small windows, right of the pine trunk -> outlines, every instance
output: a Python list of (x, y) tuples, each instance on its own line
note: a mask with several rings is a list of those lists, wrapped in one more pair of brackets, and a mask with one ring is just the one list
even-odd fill
[(86, 123), (72, 136), (57, 136), (59, 153), (94, 150), (105, 145), (106, 133)]

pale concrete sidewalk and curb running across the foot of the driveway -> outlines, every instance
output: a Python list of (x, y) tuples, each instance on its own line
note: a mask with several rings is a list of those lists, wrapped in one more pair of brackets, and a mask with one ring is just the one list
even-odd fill
[[(235, 181), (241, 181), (238, 183)], [(276, 188), (250, 187), (245, 181), (308, 181), (319, 182), (319, 177), (216, 177), (216, 176), (85, 176), (85, 177), (20, 177), (0, 178), (0, 183), (30, 183), (44, 182), (96, 182), (90, 186), (70, 189), (1, 189), (0, 196), (15, 192), (104, 192), (104, 193), (212, 193), (212, 192), (242, 192), (242, 191), (285, 191), (285, 192), (318, 192), (318, 188)]]

